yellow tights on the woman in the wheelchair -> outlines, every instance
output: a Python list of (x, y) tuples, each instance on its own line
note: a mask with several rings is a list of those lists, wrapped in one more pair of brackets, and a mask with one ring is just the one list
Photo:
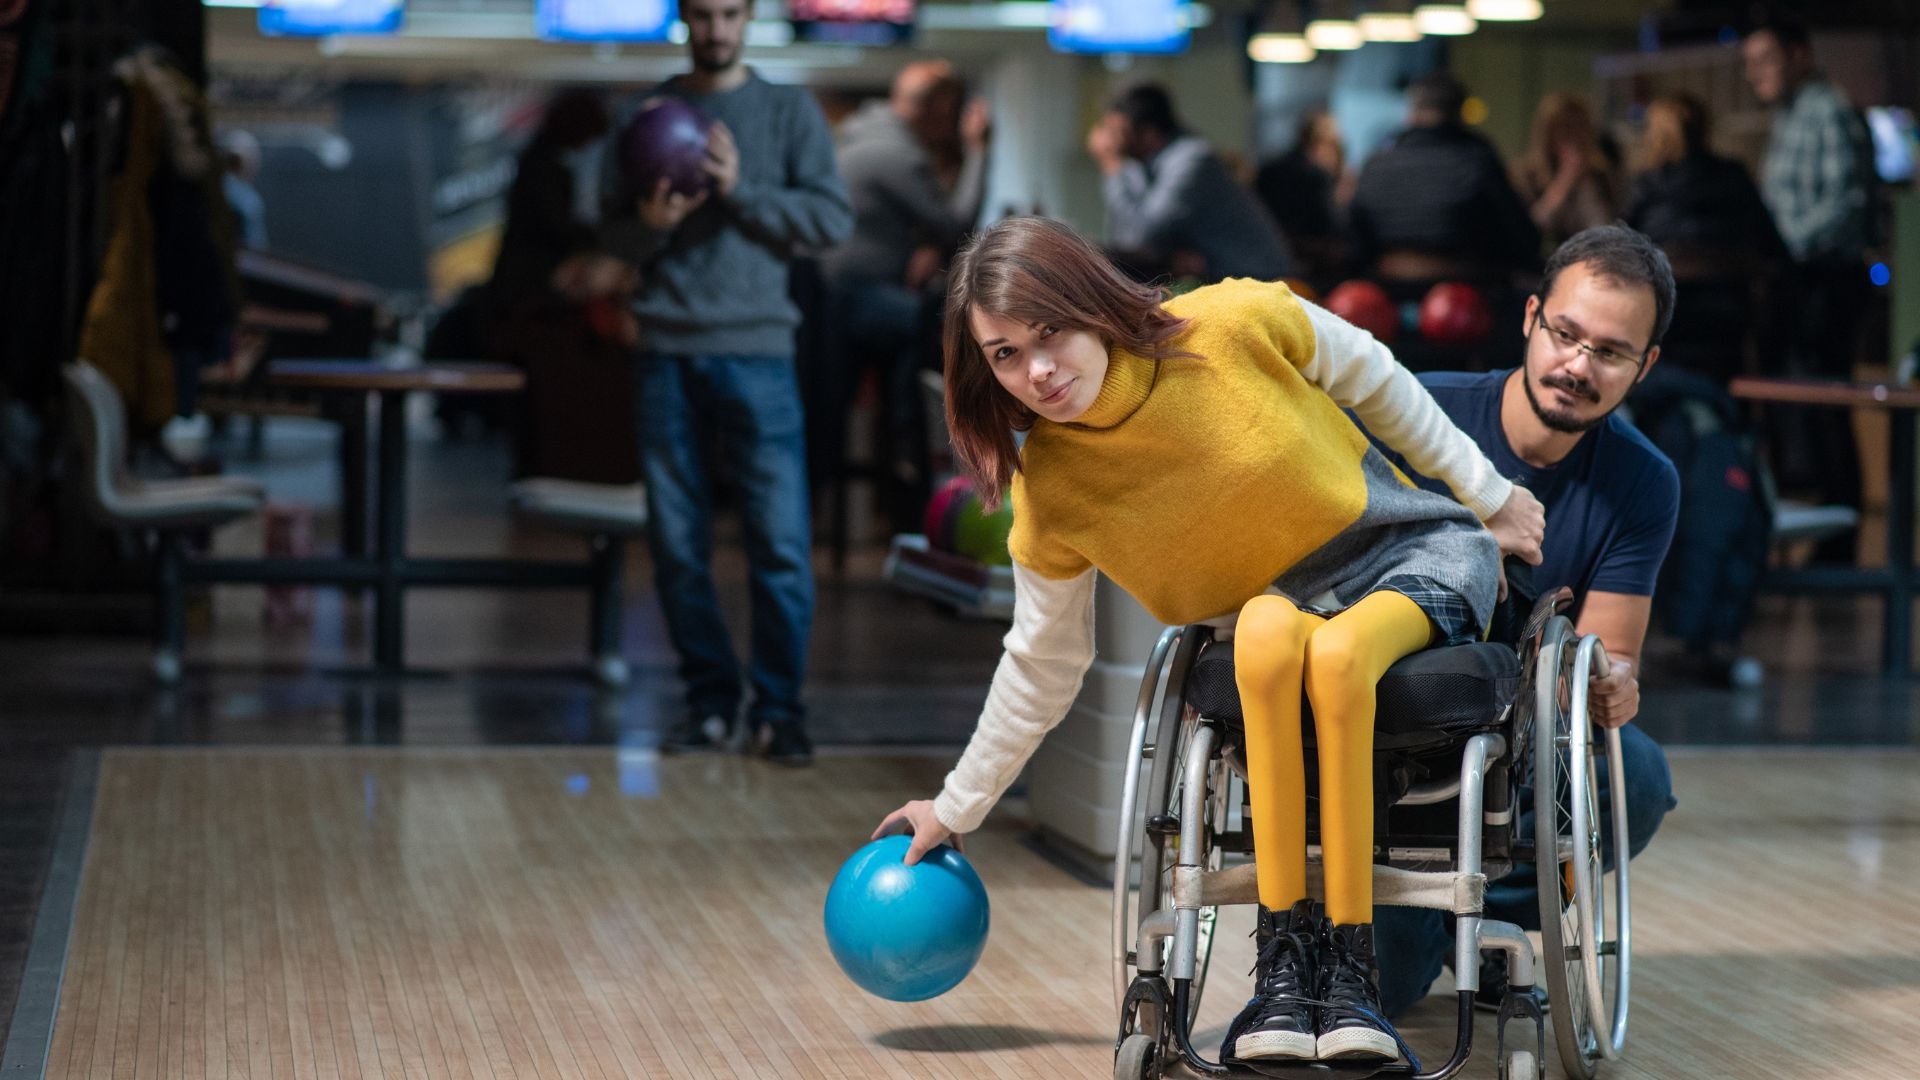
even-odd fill
[(1373, 922), (1373, 690), (1394, 661), (1430, 640), (1427, 613), (1390, 590), (1332, 619), (1283, 596), (1256, 596), (1240, 609), (1233, 661), (1263, 907), (1286, 911), (1308, 896), (1306, 698), (1319, 746), (1327, 917), (1336, 926)]

